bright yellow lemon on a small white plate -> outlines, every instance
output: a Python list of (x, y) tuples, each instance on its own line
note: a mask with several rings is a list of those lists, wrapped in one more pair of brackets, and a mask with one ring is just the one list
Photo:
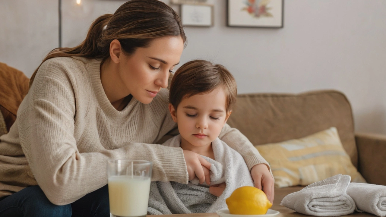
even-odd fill
[(242, 186), (234, 190), (225, 202), (229, 213), (236, 215), (264, 215), (272, 206), (267, 195), (252, 186)]

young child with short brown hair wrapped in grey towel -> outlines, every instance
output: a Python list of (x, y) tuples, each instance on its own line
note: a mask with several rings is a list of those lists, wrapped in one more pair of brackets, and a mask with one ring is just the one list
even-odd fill
[(176, 71), (170, 86), (169, 110), (180, 134), (163, 145), (200, 154), (212, 164), (211, 185), (226, 183), (226, 187), (216, 197), (197, 178), (188, 185), (152, 182), (149, 214), (216, 212), (227, 207), (225, 199), (236, 188), (254, 186), (242, 156), (218, 139), (236, 95), (236, 81), (222, 65), (194, 60)]

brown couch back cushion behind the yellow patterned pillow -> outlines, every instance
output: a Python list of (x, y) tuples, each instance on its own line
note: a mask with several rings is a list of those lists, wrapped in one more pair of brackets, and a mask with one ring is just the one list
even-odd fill
[(239, 129), (255, 146), (298, 139), (336, 127), (345, 151), (357, 167), (352, 110), (341, 92), (240, 94), (227, 123)]

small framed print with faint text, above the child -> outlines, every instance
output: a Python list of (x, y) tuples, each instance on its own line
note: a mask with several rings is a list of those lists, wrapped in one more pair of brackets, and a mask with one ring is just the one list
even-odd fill
[(180, 11), (184, 26), (213, 26), (213, 5), (182, 4)]

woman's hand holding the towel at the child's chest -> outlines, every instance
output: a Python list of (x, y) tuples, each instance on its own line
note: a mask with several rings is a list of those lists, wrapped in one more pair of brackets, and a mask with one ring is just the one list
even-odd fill
[(209, 169), (211, 164), (193, 151), (183, 150), (183, 153), (186, 168), (188, 168), (189, 180), (192, 180), (197, 176), (198, 180), (200, 180), (200, 184), (205, 181), (210, 185)]

